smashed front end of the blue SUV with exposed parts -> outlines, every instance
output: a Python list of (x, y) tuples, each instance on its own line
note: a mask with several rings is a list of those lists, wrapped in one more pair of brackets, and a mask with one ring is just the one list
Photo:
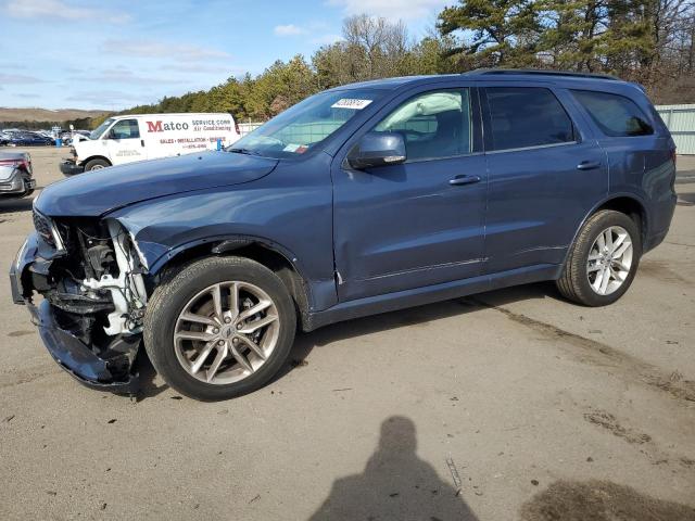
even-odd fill
[(52, 219), (34, 209), (36, 232), (10, 270), (53, 358), (84, 384), (134, 393), (147, 269), (115, 219)]

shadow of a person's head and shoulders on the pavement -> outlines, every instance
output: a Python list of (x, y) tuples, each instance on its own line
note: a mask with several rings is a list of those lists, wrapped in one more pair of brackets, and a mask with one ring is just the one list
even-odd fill
[(309, 520), (477, 521), (460, 490), (440, 480), (416, 449), (413, 421), (402, 416), (388, 418), (364, 472), (336, 480)]

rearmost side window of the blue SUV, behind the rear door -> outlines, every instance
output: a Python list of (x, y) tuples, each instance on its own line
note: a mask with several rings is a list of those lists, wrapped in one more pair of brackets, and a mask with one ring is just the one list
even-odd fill
[(572, 90), (572, 94), (606, 136), (654, 134), (654, 128), (649, 125), (644, 112), (623, 96), (592, 90)]

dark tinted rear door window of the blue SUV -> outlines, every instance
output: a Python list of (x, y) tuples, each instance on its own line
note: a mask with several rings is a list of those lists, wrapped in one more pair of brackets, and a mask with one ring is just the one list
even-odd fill
[(492, 150), (573, 142), (574, 127), (555, 94), (540, 87), (485, 88)]

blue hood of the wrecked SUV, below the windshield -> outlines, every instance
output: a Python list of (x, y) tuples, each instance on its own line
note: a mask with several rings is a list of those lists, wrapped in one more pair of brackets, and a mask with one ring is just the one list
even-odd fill
[(229, 152), (142, 161), (50, 185), (35, 206), (51, 217), (97, 217), (148, 199), (253, 181), (273, 171), (277, 164), (277, 160)]

